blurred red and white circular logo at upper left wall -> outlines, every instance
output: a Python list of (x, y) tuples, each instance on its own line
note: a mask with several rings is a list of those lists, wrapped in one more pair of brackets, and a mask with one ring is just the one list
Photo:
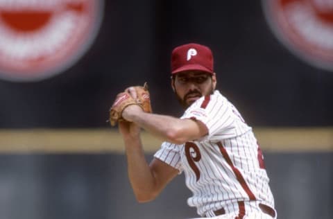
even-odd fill
[(0, 78), (31, 81), (71, 67), (92, 45), (102, 0), (1, 0)]

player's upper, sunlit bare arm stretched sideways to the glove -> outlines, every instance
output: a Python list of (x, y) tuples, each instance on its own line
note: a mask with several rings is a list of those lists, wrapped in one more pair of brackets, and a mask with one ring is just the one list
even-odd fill
[(146, 113), (137, 105), (126, 107), (123, 118), (136, 123), (163, 141), (176, 144), (200, 139), (208, 134), (207, 126), (200, 121)]

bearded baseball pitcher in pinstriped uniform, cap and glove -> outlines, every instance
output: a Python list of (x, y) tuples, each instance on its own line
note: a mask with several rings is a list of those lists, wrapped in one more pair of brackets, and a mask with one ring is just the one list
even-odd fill
[[(171, 54), (171, 87), (185, 112), (153, 114), (148, 87), (128, 87), (110, 109), (119, 124), (128, 176), (139, 202), (148, 202), (180, 173), (199, 218), (277, 218), (262, 150), (239, 111), (216, 90), (212, 51), (185, 44)], [(150, 164), (140, 130), (163, 139)]]

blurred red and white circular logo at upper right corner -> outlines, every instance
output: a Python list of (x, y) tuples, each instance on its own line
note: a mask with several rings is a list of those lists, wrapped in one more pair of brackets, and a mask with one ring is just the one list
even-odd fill
[(314, 67), (333, 71), (333, 0), (262, 0), (273, 33)]

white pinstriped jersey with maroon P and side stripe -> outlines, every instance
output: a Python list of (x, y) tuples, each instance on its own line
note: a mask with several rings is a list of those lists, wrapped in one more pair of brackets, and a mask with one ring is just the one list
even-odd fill
[(184, 171), (197, 213), (237, 201), (257, 200), (274, 207), (262, 152), (237, 109), (219, 91), (196, 100), (181, 117), (205, 123), (209, 134), (182, 145), (164, 142), (155, 157)]

